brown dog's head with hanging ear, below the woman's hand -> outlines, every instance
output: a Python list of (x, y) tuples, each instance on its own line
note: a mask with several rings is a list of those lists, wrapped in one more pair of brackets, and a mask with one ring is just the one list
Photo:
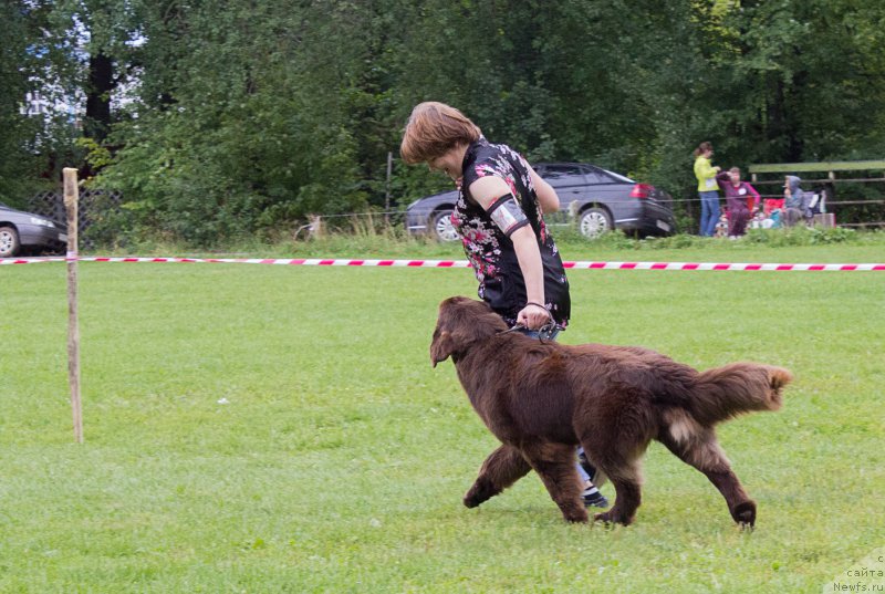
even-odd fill
[(449, 298), (439, 304), (439, 317), (430, 342), (430, 361), (436, 367), (451, 356), (456, 362), (475, 342), (507, 330), (507, 324), (483, 301)]

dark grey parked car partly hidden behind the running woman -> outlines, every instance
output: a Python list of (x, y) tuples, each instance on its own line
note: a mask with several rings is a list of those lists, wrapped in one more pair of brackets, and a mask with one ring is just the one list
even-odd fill
[[(654, 186), (584, 163), (539, 163), (533, 167), (560, 197), (560, 212), (544, 216), (549, 225), (575, 222), (587, 238), (613, 229), (638, 237), (668, 236), (676, 229), (673, 198)], [(455, 241), (458, 235), (451, 226), (451, 211), (457, 200), (457, 190), (415, 200), (406, 209), (406, 228)]]

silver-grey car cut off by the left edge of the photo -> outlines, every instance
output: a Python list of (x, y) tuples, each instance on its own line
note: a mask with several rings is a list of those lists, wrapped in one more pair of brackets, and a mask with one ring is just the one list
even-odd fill
[(0, 202), (0, 258), (22, 252), (62, 252), (67, 227), (33, 212), (22, 212)]

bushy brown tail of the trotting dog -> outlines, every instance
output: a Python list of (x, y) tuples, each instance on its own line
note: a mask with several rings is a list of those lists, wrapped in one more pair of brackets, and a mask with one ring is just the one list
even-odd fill
[(782, 368), (756, 363), (733, 363), (698, 374), (691, 398), (691, 416), (710, 427), (743, 413), (777, 410), (781, 390), (793, 379)]

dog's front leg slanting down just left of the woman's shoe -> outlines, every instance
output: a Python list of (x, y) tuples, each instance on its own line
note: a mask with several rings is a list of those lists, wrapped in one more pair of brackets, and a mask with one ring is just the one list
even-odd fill
[(551, 499), (559, 506), (566, 522), (586, 522), (587, 511), (581, 498), (583, 487), (577, 476), (574, 446), (538, 444), (524, 450), (529, 463), (544, 482)]

